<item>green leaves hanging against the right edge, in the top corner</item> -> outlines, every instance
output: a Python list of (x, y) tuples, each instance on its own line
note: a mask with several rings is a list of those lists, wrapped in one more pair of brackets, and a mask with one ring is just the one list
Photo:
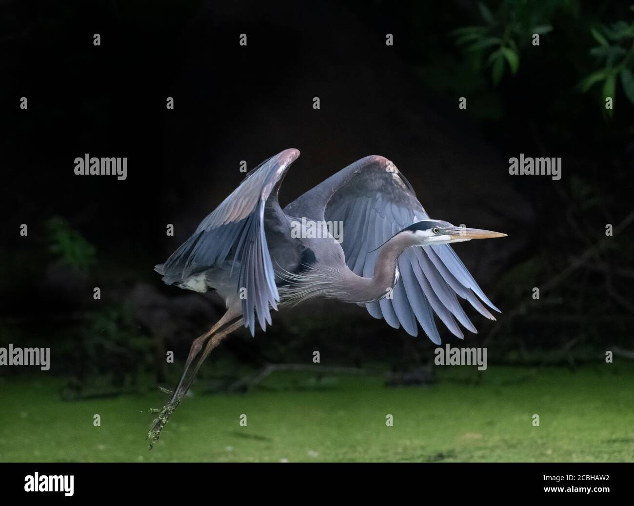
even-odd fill
[[(581, 79), (579, 89), (586, 93), (602, 82), (602, 100), (605, 103), (607, 97), (615, 100), (617, 82), (620, 81), (623, 93), (634, 105), (634, 22), (618, 21), (609, 27), (597, 25), (590, 29), (590, 34), (598, 42), (598, 46), (590, 49), (590, 54), (596, 57), (601, 68)], [(609, 116), (613, 112), (613, 108), (605, 110)]]

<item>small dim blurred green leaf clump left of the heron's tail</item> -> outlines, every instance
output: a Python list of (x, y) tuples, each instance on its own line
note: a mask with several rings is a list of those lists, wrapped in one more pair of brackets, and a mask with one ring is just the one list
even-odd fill
[(46, 221), (49, 251), (77, 271), (87, 271), (95, 262), (94, 246), (59, 216)]

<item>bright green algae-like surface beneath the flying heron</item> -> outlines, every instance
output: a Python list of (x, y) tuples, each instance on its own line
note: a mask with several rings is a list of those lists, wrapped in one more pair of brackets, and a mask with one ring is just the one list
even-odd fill
[(59, 379), (5, 378), (0, 461), (634, 461), (631, 367), (448, 367), (437, 378), (390, 388), (381, 377), (275, 373), (247, 394), (196, 394), (195, 384), (152, 451), (148, 408), (165, 394), (68, 402)]

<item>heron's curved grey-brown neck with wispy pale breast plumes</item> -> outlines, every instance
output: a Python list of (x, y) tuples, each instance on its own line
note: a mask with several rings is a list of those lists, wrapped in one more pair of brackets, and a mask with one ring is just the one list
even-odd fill
[(343, 263), (320, 261), (302, 273), (283, 273), (281, 277), (290, 284), (278, 288), (281, 302), (295, 305), (315, 297), (326, 297), (360, 304), (383, 299), (398, 281), (398, 257), (413, 245), (411, 237), (396, 235), (380, 250), (368, 253), (378, 254), (372, 278), (356, 275)]

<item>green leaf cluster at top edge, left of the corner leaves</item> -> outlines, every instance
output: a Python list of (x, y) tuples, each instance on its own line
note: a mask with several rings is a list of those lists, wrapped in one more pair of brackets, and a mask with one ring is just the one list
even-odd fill
[(552, 30), (548, 23), (552, 9), (507, 0), (493, 13), (484, 3), (478, 5), (484, 25), (462, 27), (453, 30), (451, 35), (467, 54), (482, 57), (488, 53), (486, 66), (491, 68), (494, 86), (498, 86), (507, 68), (511, 74), (517, 74), (520, 51), (531, 44), (533, 34), (547, 34)]

